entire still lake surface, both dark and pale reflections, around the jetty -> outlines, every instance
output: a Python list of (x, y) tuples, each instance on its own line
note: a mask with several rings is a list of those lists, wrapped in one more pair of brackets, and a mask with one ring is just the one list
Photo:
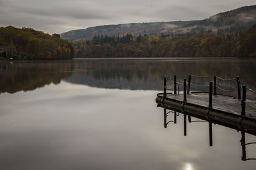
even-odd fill
[[(178, 117), (164, 129), (155, 102), (164, 74), (180, 83), (188, 74), (240, 76), (255, 89), (255, 66), (253, 59), (1, 62), (0, 169), (255, 169), (256, 160), (241, 160), (241, 133), (213, 125), (210, 147), (208, 124), (188, 124), (183, 136)], [(255, 141), (246, 134), (246, 143)], [(246, 157), (256, 157), (256, 145), (246, 146)]]

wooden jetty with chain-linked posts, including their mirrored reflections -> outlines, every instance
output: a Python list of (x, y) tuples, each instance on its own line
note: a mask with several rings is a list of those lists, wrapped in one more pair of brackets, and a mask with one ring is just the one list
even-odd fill
[[(195, 85), (191, 83), (191, 78), (210, 78), (209, 85)], [(236, 81), (236, 88), (223, 89), (218, 85), (217, 80)], [(168, 86), (172, 85), (171, 88)], [(206, 87), (207, 91), (191, 92), (193, 87)], [(241, 131), (241, 146), (243, 148), (242, 160), (246, 159), (245, 155), (245, 133), (256, 135), (256, 102), (246, 99), (246, 91), (256, 93), (254, 90), (241, 86), (239, 77), (232, 79), (223, 79), (218, 76), (193, 76), (189, 75), (188, 82), (184, 78), (183, 94), (179, 93), (179, 83), (177, 76), (168, 78), (164, 76), (164, 92), (157, 94), (157, 107), (164, 108), (164, 127), (166, 128), (170, 122), (176, 124), (177, 115), (184, 115), (184, 136), (187, 134), (187, 117), (188, 122), (209, 122), (209, 145), (212, 146), (212, 124), (219, 124), (225, 127)], [(236, 92), (237, 97), (224, 94), (218, 94), (217, 89), (225, 92)], [(171, 92), (167, 92), (167, 91)], [(242, 91), (242, 95), (241, 95)], [(170, 111), (167, 111), (170, 110)], [(167, 116), (173, 113), (174, 120), (167, 121)], [(200, 120), (191, 121), (191, 117)], [(249, 143), (253, 144), (253, 143)]]

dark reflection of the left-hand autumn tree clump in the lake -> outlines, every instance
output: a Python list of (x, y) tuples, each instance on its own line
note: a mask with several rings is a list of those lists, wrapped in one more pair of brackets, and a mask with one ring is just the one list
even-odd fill
[(58, 84), (67, 78), (72, 68), (71, 61), (2, 62), (0, 63), (0, 92), (15, 93), (35, 90), (51, 83)]

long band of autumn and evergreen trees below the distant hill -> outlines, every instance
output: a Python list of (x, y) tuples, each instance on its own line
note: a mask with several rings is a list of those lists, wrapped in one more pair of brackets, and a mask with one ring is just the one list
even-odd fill
[(228, 34), (95, 36), (74, 41), (76, 57), (256, 57), (256, 26)]

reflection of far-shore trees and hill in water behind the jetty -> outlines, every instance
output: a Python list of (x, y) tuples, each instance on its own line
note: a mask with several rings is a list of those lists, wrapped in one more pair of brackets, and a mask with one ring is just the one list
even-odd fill
[[(93, 87), (118, 89), (163, 89), (163, 75), (177, 74), (178, 81), (183, 82), (188, 74), (201, 76), (218, 75), (222, 78), (241, 77), (242, 83), (256, 86), (255, 60), (76, 60), (79, 71), (68, 78), (73, 83)], [(204, 79), (193, 80), (204, 85)], [(234, 84), (234, 85), (233, 85)], [(236, 87), (236, 81), (221, 82), (221, 85)], [(182, 85), (180, 86), (182, 87)]]

